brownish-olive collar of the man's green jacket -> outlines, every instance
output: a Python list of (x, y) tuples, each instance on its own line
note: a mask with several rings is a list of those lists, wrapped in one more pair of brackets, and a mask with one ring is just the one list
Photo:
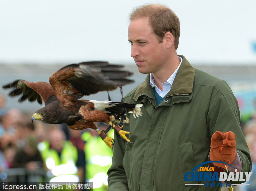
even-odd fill
[[(167, 93), (166, 96), (172, 96), (176, 94), (189, 94), (192, 93), (193, 82), (195, 77), (195, 68), (188, 62), (185, 56), (178, 55), (182, 57), (182, 63), (175, 76), (172, 84), (171, 91)], [(149, 84), (149, 77), (146, 77), (145, 81), (139, 85), (136, 90), (133, 99), (136, 101), (142, 95), (148, 96), (149, 98), (154, 98), (154, 92), (152, 86)]]

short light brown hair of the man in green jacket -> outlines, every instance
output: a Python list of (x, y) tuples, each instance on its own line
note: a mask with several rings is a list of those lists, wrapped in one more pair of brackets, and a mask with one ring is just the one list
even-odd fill
[(177, 49), (180, 38), (180, 20), (168, 7), (161, 4), (144, 4), (135, 7), (129, 15), (129, 20), (148, 18), (149, 25), (156, 34), (159, 43), (163, 42), (166, 32), (174, 36), (174, 47)]

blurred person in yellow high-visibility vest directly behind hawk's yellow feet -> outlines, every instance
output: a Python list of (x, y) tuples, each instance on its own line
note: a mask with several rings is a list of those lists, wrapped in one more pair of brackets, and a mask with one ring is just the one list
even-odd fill
[[(106, 130), (104, 123), (96, 123), (99, 131)], [(113, 129), (108, 136), (114, 138)], [(86, 158), (86, 182), (92, 182), (93, 191), (106, 191), (108, 189), (107, 171), (111, 166), (113, 150), (108, 147), (94, 130), (85, 131), (82, 139)]]

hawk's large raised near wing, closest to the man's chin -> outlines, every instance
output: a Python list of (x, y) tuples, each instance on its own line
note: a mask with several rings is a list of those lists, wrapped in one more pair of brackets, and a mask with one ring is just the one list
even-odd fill
[(134, 82), (127, 79), (132, 73), (121, 70), (123, 67), (103, 61), (70, 64), (55, 72), (49, 81), (57, 98), (66, 102)]

